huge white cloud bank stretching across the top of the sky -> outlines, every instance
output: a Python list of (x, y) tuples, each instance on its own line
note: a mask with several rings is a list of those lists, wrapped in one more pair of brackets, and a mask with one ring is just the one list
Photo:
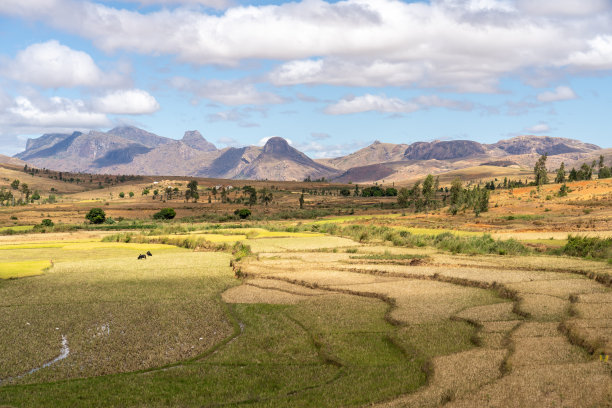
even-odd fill
[[(281, 61), (270, 76), (277, 85), (417, 85), (463, 92), (496, 92), (500, 78), (534, 69), (609, 69), (609, 9), (605, 0), (303, 0), (234, 6), (219, 14), (76, 0), (0, 2), (0, 13), (44, 21), (108, 52), (174, 55), (201, 65)], [(594, 13), (597, 19), (584, 18)], [(258, 93), (246, 85), (233, 100), (216, 91), (230, 105)]]

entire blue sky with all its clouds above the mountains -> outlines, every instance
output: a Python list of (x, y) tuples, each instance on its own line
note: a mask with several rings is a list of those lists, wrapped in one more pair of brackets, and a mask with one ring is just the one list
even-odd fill
[(612, 0), (0, 1), (0, 154), (120, 125), (316, 158), (523, 134), (612, 147)]

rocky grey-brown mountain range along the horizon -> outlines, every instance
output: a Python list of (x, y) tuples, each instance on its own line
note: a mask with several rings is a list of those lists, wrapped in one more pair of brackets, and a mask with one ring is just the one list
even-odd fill
[(313, 160), (280, 137), (270, 138), (263, 147), (218, 149), (197, 130), (176, 140), (121, 126), (108, 132), (44, 134), (28, 139), (26, 149), (14, 158), (40, 168), (71, 172), (373, 182), (401, 181), (483, 164), (531, 167), (544, 153), (549, 155), (549, 167), (556, 168), (562, 161), (572, 165), (591, 160), (599, 152), (607, 150), (575, 139), (518, 136), (494, 144), (376, 141), (346, 156)]

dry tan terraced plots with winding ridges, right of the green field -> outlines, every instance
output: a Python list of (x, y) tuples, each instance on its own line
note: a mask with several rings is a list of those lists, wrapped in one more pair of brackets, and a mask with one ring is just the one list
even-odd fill
[[(473, 339), (479, 347), (434, 357), (425, 387), (379, 406), (612, 406), (612, 364), (598, 358), (612, 354), (612, 291), (606, 285), (545, 267), (513, 269), (511, 258), (494, 267), (483, 267), (478, 257), (449, 255), (424, 264), (355, 258), (264, 253), (242, 272), (246, 283), (273, 279), (390, 299), (388, 317), (399, 326), (456, 319), (479, 328)], [(464, 307), (473, 288), (492, 289), (512, 302)]]

